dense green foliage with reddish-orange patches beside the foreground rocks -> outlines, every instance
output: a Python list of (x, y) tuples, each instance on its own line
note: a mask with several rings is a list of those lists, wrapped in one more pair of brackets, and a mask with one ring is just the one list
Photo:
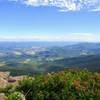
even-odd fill
[(66, 70), (27, 77), (19, 81), (16, 90), (27, 100), (99, 100), (100, 74)]

